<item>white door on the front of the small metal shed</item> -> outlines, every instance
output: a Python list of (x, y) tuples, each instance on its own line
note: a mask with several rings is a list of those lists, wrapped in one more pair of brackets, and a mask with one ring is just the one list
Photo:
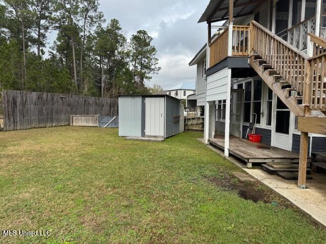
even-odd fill
[(145, 98), (145, 136), (164, 137), (164, 98)]

